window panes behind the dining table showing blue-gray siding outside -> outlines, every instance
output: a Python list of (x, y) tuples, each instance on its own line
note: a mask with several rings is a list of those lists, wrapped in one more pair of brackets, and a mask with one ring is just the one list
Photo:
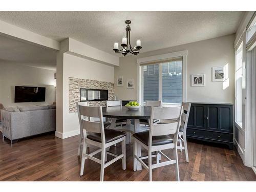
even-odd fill
[(162, 100), (163, 103), (182, 102), (182, 58), (141, 66), (143, 101)]

